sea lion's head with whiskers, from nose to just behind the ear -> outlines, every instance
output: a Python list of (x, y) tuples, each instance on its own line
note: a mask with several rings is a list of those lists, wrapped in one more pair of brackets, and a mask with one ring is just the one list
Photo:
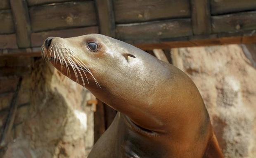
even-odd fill
[[(159, 64), (152, 55), (101, 34), (48, 37), (42, 47), (42, 56), (60, 72), (91, 92), (108, 92), (107, 96), (123, 95), (123, 89), (126, 93), (140, 89), (142, 93), (151, 86), (152, 73), (161, 71), (152, 67), (152, 63)], [(135, 94), (130, 96), (136, 98)]]

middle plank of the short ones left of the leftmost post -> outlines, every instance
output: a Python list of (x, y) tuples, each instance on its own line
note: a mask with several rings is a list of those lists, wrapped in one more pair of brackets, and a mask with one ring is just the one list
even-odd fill
[(14, 23), (12, 20), (12, 10), (0, 10), (0, 34), (14, 33)]

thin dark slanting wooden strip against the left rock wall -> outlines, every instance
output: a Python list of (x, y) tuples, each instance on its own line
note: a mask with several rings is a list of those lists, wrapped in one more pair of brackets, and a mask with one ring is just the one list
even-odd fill
[(4, 147), (6, 144), (8, 144), (8, 142), (10, 142), (10, 138), (11, 138), (11, 131), (12, 131), (12, 126), (14, 123), (14, 119), (16, 116), (16, 112), (17, 112), (17, 108), (18, 108), (18, 104), (16, 103), (17, 98), (18, 98), (18, 94), (19, 94), (19, 89), (21, 87), (21, 81), (22, 78), (19, 78), (19, 82), (17, 84), (17, 88), (14, 92), (14, 95), (12, 97), (12, 101), (10, 103), (10, 110), (9, 110), (9, 114), (5, 123), (5, 127), (4, 127), (4, 131), (3, 133), (1, 133), (1, 141), (0, 141), (0, 147)]

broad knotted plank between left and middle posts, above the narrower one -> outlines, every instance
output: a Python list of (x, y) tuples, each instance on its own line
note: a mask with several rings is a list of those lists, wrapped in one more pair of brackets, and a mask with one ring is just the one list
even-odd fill
[(29, 14), (33, 32), (97, 25), (93, 1), (31, 7)]

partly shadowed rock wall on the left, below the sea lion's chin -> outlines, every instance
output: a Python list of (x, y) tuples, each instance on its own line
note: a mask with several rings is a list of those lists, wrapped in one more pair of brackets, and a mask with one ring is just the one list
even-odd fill
[(0, 62), (2, 158), (86, 158), (94, 142), (93, 111), (87, 105), (92, 94), (42, 60), (5, 57)]

